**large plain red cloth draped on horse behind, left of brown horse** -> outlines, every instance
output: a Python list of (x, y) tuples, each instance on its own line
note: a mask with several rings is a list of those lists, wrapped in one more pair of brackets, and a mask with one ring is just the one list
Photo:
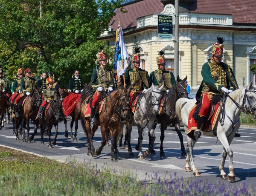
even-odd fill
[(66, 118), (75, 109), (80, 97), (81, 94), (71, 92), (69, 95), (67, 95), (67, 97), (64, 98), (64, 101), (62, 102), (62, 109), (64, 115), (66, 115)]

